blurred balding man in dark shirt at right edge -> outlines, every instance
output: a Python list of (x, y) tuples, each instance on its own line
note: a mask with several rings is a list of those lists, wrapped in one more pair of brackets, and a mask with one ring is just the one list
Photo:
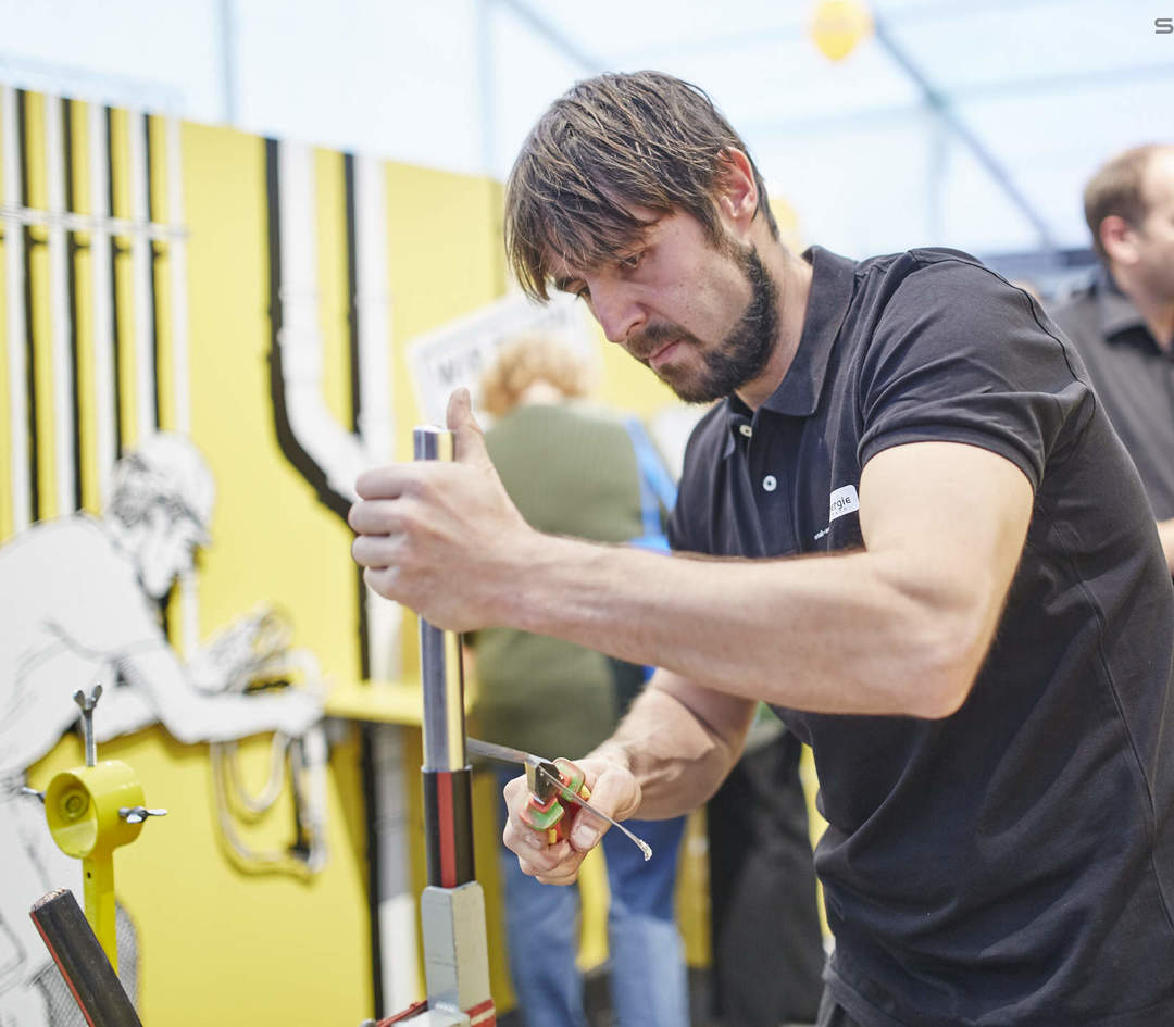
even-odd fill
[(1174, 144), (1113, 157), (1085, 187), (1101, 266), (1053, 312), (1133, 457), (1174, 572)]

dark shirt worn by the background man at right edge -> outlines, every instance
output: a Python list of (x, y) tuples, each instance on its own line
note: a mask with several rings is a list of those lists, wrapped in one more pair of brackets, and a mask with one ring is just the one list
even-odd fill
[(1052, 317), (1080, 351), (1155, 516), (1174, 518), (1174, 352), (1104, 269)]

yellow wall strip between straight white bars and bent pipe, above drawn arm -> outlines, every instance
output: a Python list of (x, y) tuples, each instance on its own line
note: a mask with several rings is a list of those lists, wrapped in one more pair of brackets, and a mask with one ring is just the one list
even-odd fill
[[(255, 136), (184, 126), (190, 290), (193, 435), (217, 481), (214, 546), (204, 558), (207, 623), (242, 601), (318, 609), (324, 595), (352, 596), (351, 533), (277, 452), (270, 406), (270, 325), (264, 143)], [(286, 550), (284, 538), (315, 545)], [(248, 569), (248, 574), (231, 573)], [(252, 594), (243, 594), (249, 582)], [(263, 585), (259, 585), (263, 582)], [(358, 673), (352, 602), (298, 622), (298, 644), (340, 676)]]

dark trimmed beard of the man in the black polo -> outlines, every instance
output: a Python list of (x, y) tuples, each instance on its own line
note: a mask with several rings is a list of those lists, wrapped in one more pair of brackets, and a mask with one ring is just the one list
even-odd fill
[[(672, 366), (656, 372), (686, 403), (723, 399), (748, 381), (754, 381), (762, 374), (775, 349), (775, 337), (778, 333), (778, 286), (754, 245), (736, 246), (730, 241), (727, 251), (741, 266), (750, 285), (750, 302), (745, 311), (721, 345), (704, 353), (706, 367), (701, 374), (690, 377), (683, 369), (674, 371)], [(680, 338), (686, 345), (702, 347), (695, 336), (669, 325), (652, 326), (645, 338), (650, 343)]]

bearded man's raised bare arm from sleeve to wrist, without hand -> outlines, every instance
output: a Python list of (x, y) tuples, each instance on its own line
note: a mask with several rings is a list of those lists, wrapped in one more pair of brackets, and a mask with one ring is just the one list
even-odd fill
[(531, 535), (495, 612), (743, 698), (829, 714), (944, 717), (986, 656), (1032, 509), (1007, 460), (896, 446), (861, 479), (865, 549), (688, 560)]

